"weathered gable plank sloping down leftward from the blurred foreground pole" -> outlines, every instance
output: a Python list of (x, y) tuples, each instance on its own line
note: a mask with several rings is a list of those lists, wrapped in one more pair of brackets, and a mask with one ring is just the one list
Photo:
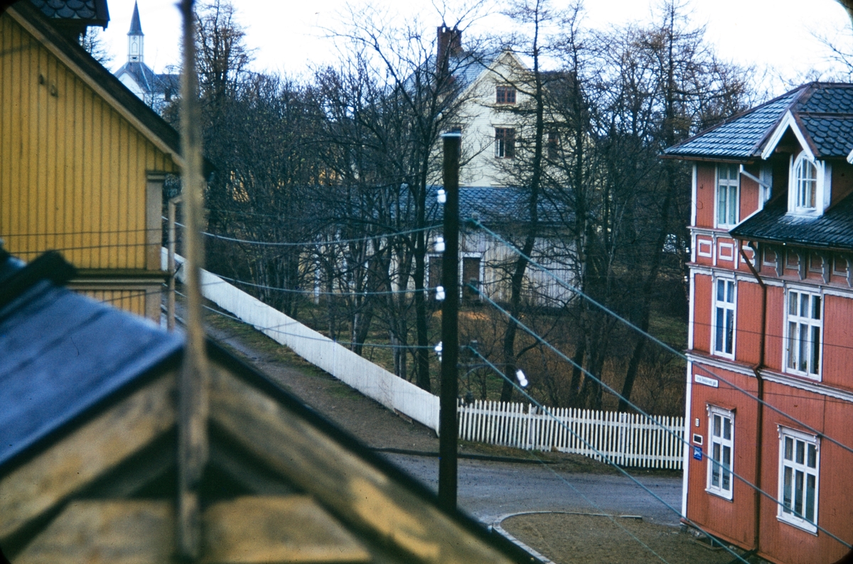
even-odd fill
[(0, 480), (0, 544), (175, 424), (175, 374), (113, 406)]

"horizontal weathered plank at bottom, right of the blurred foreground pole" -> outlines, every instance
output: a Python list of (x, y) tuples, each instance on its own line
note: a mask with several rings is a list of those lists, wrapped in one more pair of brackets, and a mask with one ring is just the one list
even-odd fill
[(309, 496), (236, 498), (213, 504), (202, 521), (204, 564), (371, 561)]

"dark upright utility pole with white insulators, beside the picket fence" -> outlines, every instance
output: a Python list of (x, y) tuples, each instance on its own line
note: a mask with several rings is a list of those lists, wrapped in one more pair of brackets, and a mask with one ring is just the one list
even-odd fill
[(444, 257), (441, 282), (441, 412), (438, 421), (438, 504), (456, 509), (456, 420), (459, 362), (459, 157), (462, 135), (446, 133), (444, 139)]

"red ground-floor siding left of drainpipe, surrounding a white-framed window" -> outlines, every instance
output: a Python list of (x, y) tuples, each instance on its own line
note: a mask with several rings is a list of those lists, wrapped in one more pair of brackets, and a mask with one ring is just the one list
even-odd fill
[[(756, 379), (734, 372), (712, 368), (718, 377), (724, 378), (751, 394), (756, 393)], [(693, 366), (693, 374), (711, 377), (699, 366)], [(734, 411), (734, 473), (748, 481), (754, 481), (756, 467), (756, 451), (750, 445), (756, 444), (757, 410), (756, 403), (746, 394), (730, 388), (719, 381), (719, 388), (712, 388), (693, 383), (691, 400), (690, 435), (703, 436), (705, 452), (708, 448), (708, 412), (707, 406), (718, 406)], [(695, 426), (699, 419), (699, 427)], [(688, 517), (699, 523), (709, 532), (745, 548), (751, 548), (755, 537), (755, 495), (751, 486), (744, 481), (734, 478), (732, 500), (720, 498), (705, 492), (708, 476), (708, 458), (702, 460), (689, 459), (690, 473), (688, 475)]]

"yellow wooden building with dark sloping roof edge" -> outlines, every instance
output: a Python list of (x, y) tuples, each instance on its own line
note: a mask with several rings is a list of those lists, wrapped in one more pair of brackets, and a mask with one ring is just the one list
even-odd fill
[(55, 249), (70, 287), (160, 319), (162, 187), (177, 132), (23, 0), (0, 14), (0, 238)]

